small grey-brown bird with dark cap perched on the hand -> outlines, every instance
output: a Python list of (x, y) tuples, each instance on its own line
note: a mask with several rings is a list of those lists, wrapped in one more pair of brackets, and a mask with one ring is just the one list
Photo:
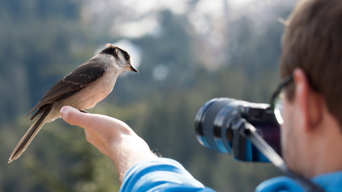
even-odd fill
[(130, 54), (107, 43), (104, 50), (54, 84), (26, 116), (28, 118), (38, 109), (29, 120), (31, 123), (41, 114), (19, 141), (8, 163), (25, 151), (43, 124), (61, 117), (60, 110), (63, 106), (88, 113), (84, 109), (93, 108), (104, 99), (113, 90), (119, 74), (126, 70), (138, 72)]

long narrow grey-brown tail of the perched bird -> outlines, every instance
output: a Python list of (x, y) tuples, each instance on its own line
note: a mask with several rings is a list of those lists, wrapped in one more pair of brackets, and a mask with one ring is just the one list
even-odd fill
[(42, 110), (40, 110), (41, 112), (43, 112), (43, 114), (41, 114), (40, 117), (31, 125), (31, 127), (28, 129), (26, 134), (19, 141), (18, 145), (15, 147), (14, 151), (12, 152), (8, 163), (11, 163), (13, 160), (17, 159), (25, 151), (25, 149), (30, 144), (32, 139), (38, 133), (39, 129), (46, 122), (45, 118), (48, 116), (49, 112), (51, 111), (51, 107), (52, 107), (52, 104), (48, 104), (48, 105), (45, 105), (42, 108)]

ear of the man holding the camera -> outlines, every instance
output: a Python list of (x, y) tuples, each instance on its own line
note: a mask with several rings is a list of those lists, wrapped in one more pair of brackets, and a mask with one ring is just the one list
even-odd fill
[(303, 69), (293, 70), (295, 83), (295, 102), (299, 110), (299, 125), (305, 132), (314, 129), (322, 120), (323, 98), (316, 93)]

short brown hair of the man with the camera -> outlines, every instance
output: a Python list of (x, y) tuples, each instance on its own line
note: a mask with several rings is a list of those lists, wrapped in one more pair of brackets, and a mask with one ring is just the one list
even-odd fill
[[(302, 68), (342, 125), (342, 1), (301, 1), (288, 21), (282, 37), (281, 77)], [(293, 99), (293, 83), (286, 96)]]

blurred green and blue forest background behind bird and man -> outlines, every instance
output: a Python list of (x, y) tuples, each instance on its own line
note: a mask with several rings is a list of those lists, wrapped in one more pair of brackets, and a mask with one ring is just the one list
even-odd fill
[(58, 80), (112, 43), (139, 73), (122, 74), (91, 113), (126, 122), (154, 152), (218, 192), (254, 191), (280, 173), (200, 146), (194, 119), (209, 99), (267, 102), (279, 82), (295, 0), (0, 0), (0, 191), (119, 190), (112, 162), (62, 119), (7, 164), (28, 112)]

